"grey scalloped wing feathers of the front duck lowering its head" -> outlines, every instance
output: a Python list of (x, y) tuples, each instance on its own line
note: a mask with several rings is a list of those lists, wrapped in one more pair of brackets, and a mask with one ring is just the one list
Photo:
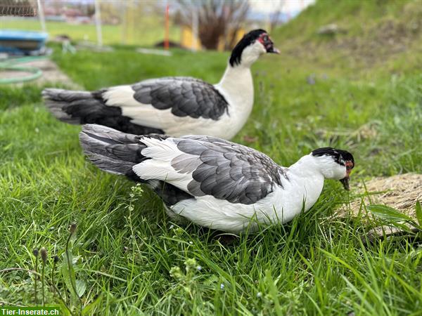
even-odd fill
[(275, 185), (282, 187), (283, 167), (261, 152), (210, 136), (185, 136), (174, 141), (179, 150), (198, 157), (195, 163), (174, 159), (172, 164), (175, 169), (191, 170), (193, 180), (187, 187), (191, 195), (254, 204)]

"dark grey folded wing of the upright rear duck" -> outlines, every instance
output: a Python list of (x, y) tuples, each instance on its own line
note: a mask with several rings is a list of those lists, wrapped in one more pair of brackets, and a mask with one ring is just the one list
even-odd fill
[(134, 98), (159, 110), (172, 109), (177, 117), (217, 120), (228, 103), (214, 86), (190, 77), (166, 77), (134, 84)]

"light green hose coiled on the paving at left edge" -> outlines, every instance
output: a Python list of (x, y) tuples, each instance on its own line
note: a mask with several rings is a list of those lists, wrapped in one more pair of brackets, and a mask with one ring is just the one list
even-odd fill
[(30, 62), (34, 60), (46, 59), (46, 56), (27, 56), (21, 58), (13, 58), (9, 59), (6, 62), (0, 62), (0, 70), (13, 70), (18, 72), (30, 72), (31, 74), (25, 77), (17, 77), (17, 78), (0, 78), (0, 84), (15, 84), (18, 82), (25, 82), (35, 80), (41, 77), (42, 71), (37, 67), (30, 67), (30, 66), (19, 66), (16, 64), (22, 62)]

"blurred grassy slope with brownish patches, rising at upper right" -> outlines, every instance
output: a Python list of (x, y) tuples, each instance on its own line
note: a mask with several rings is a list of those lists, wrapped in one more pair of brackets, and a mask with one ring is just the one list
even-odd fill
[[(338, 74), (350, 73), (354, 79), (390, 77), (415, 67), (420, 71), (421, 20), (420, 0), (321, 0), (271, 37), (288, 55), (334, 68)], [(344, 32), (317, 34), (328, 24)]]

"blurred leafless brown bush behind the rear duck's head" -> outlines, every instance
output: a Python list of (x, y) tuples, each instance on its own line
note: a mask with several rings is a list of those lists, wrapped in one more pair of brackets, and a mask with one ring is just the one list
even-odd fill
[(179, 17), (184, 25), (191, 25), (193, 13), (198, 13), (198, 35), (207, 49), (217, 49), (220, 37), (225, 48), (236, 44), (236, 33), (241, 28), (249, 11), (245, 0), (178, 0)]

